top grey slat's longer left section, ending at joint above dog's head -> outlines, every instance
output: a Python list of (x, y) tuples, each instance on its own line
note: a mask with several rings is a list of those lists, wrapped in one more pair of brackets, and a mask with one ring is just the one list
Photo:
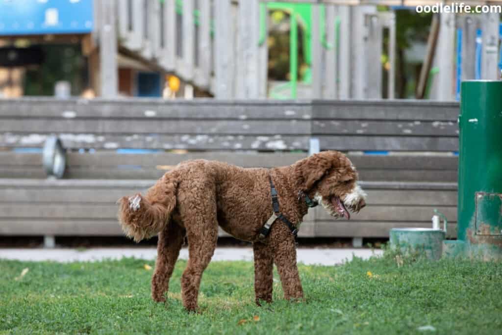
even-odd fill
[[(16, 105), (16, 108), (12, 106)], [(312, 107), (308, 100), (224, 101), (197, 98), (163, 100), (145, 98), (68, 99), (23, 98), (0, 100), (2, 118), (55, 118), (55, 119), (208, 119), (208, 120), (310, 120)]]

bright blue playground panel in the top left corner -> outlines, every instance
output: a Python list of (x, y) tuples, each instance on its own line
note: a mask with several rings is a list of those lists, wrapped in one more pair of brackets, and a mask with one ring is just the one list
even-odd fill
[(0, 36), (88, 34), (93, 0), (0, 0)]

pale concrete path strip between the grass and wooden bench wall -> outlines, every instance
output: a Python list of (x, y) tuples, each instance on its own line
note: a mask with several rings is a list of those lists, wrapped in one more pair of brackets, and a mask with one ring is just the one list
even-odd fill
[[(381, 255), (381, 250), (370, 249), (314, 249), (299, 248), (298, 262), (304, 264), (335, 265), (351, 260), (353, 256), (367, 259), (372, 255)], [(0, 249), (0, 259), (20, 261), (100, 261), (103, 259), (121, 259), (135, 257), (153, 260), (157, 256), (155, 248), (91, 248), (77, 249)], [(188, 259), (188, 249), (183, 248), (180, 258)], [(251, 248), (216, 248), (213, 261), (252, 261)]]

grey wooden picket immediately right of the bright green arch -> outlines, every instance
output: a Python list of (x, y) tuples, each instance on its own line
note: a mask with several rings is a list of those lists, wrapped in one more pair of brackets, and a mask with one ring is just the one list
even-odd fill
[(322, 97), (322, 45), (321, 45), (321, 5), (312, 5), (311, 50), (312, 50), (312, 93), (311, 97)]

